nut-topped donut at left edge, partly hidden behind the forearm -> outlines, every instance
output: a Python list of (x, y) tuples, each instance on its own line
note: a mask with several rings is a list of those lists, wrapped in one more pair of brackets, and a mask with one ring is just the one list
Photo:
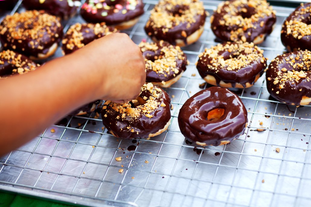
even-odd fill
[(38, 64), (11, 50), (0, 52), (0, 79), (15, 74), (25, 74), (39, 67)]

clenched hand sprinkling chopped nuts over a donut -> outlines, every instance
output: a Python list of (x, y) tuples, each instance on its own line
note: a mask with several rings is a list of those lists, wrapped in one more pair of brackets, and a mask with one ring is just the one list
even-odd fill
[(140, 48), (127, 34), (109, 34), (77, 51), (97, 68), (99, 99), (126, 102), (136, 98), (146, 81), (145, 61)]

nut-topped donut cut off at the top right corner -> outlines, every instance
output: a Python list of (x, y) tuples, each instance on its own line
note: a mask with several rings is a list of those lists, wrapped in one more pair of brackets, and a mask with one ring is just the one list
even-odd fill
[(311, 50), (311, 3), (301, 3), (284, 21), (281, 41), (288, 51)]

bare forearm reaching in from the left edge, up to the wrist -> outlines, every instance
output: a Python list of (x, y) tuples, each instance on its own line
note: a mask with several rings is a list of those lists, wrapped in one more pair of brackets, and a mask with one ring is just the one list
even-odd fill
[(99, 82), (94, 74), (83, 71), (86, 63), (74, 56), (63, 57), (34, 72), (0, 81), (0, 155), (96, 99), (98, 94), (92, 91)]

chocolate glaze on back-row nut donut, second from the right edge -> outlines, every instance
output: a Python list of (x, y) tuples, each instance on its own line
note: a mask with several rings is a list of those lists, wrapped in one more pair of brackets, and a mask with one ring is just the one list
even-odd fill
[[(228, 1), (229, 4), (232, 4), (236, 0)], [(211, 17), (211, 29), (215, 36), (223, 41), (238, 41), (241, 39), (242, 35), (246, 38), (247, 42), (253, 42), (254, 39), (263, 34), (271, 34), (273, 30), (273, 25), (276, 23), (276, 15), (271, 14), (270, 16), (260, 17), (257, 22), (252, 22), (253, 27), (244, 28), (243, 33), (240, 34), (238, 38), (231, 39), (232, 31), (236, 31), (240, 28), (243, 28), (239, 25), (221, 25), (221, 21), (224, 20), (224, 15), (234, 15), (239, 16), (241, 15), (243, 18), (249, 18), (252, 15), (256, 14), (258, 11), (254, 7), (250, 7), (247, 4), (240, 4), (237, 9), (240, 11), (242, 8), (245, 8), (247, 12), (240, 11), (239, 13), (232, 14), (230, 11), (226, 11), (228, 5), (223, 5), (220, 9), (220, 12), (214, 12), (213, 16)], [(261, 22), (263, 21), (263, 26)]]

